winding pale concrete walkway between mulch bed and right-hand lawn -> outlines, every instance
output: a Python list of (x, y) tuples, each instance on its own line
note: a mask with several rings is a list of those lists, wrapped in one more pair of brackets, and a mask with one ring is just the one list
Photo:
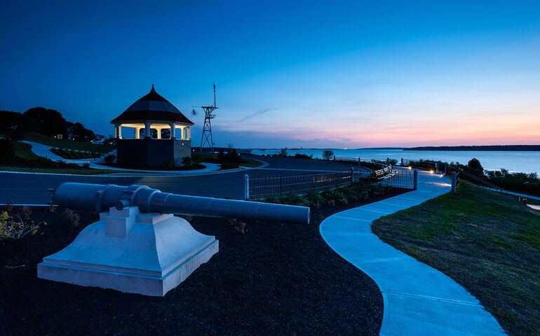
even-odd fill
[(449, 276), (371, 232), (377, 218), (449, 191), (448, 179), (419, 172), (418, 190), (342, 211), (320, 224), (327, 244), (379, 286), (384, 300), (382, 336), (506, 335), (482, 304)]

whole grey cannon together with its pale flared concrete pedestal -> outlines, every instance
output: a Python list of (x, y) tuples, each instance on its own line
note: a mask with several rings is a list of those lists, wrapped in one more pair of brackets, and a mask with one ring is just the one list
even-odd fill
[[(100, 220), (43, 258), (39, 278), (164, 296), (212, 255), (219, 241), (173, 214), (309, 223), (309, 208), (162, 193), (148, 186), (63, 183), (51, 202), (95, 210)], [(249, 244), (249, 241), (247, 241)]]

